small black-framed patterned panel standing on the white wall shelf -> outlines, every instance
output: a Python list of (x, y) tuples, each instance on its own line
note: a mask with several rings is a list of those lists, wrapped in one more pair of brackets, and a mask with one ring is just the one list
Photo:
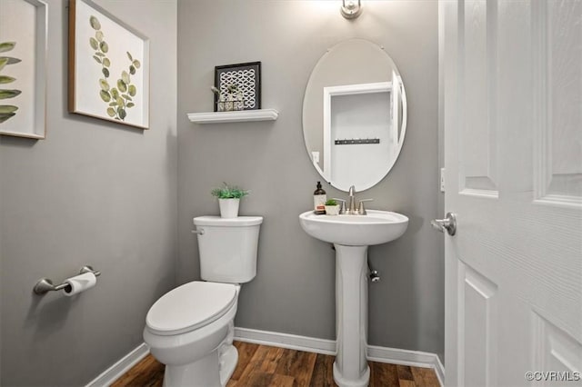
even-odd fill
[(261, 63), (215, 67), (215, 112), (261, 108)]

